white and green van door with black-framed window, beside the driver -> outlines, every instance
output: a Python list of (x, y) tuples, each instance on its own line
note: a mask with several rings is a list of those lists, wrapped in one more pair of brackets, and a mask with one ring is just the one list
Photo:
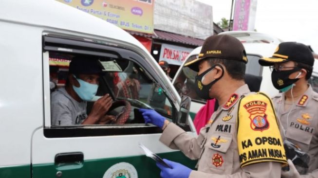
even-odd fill
[[(43, 36), (44, 125), (32, 136), (33, 178), (159, 178), (160, 170), (155, 161), (144, 155), (139, 142), (163, 158), (194, 168), (194, 161), (159, 142), (162, 130), (145, 125), (138, 112), (139, 108), (153, 108), (178, 125), (176, 101), (155, 75), (157, 69), (147, 62), (150, 59), (127, 48), (106, 45), (100, 39), (98, 43), (92, 41), (78, 36)], [(63, 88), (69, 62), (74, 56), (83, 54), (95, 56), (105, 68), (96, 95), (109, 93), (114, 101), (125, 101), (126, 104), (108, 113), (121, 116), (125, 112), (127, 119), (124, 123), (51, 125), (50, 97), (51, 92), (56, 91), (50, 90), (50, 81), (56, 83), (57, 89)], [(138, 86), (131, 89), (131, 94), (127, 94), (123, 87), (128, 80)], [(161, 93), (165, 97), (163, 107), (150, 104), (156, 88), (164, 91)], [(92, 105), (93, 102), (88, 102), (88, 114)], [(180, 126), (193, 134), (189, 125)]]

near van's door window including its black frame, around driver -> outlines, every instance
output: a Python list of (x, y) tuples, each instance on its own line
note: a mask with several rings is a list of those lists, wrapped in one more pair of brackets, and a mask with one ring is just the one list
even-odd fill
[[(47, 116), (50, 119), (45, 119), (44, 134), (46, 137), (162, 132), (156, 126), (144, 124), (144, 119), (138, 111), (139, 108), (155, 109), (169, 121), (175, 122), (177, 115), (175, 107), (166, 93), (165, 86), (158, 82), (160, 81), (156, 78), (158, 76), (151, 73), (151, 67), (147, 63), (147, 59), (127, 49), (101, 45), (101, 42), (92, 44), (83, 41), (65, 39), (65, 37), (56, 38), (56, 36), (44, 37), (43, 60), (46, 60), (46, 62), (43, 62), (43, 65), (49, 64), (49, 66), (43, 66), (43, 68), (44, 71), (45, 69), (49, 70), (49, 79), (47, 80), (50, 81), (49, 95), (51, 97), (51, 107), (45, 107), (50, 108), (51, 111), (50, 116)], [(65, 92), (64, 87), (69, 77), (69, 64), (75, 56), (81, 55), (98, 59), (105, 70), (99, 78), (99, 86), (94, 99), (87, 101), (86, 104), (81, 102), (84, 105), (84, 112), (79, 114), (80, 117), (76, 116), (75, 122), (63, 125), (63, 122), (56, 122), (56, 118), (54, 118), (56, 110), (53, 109), (53, 104), (55, 104), (52, 103), (55, 101), (53, 97), (58, 92)], [(120, 118), (120, 121), (114, 120), (102, 125), (98, 123), (95, 125), (80, 125), (90, 114), (94, 101), (107, 93), (112, 96), (114, 103), (106, 114), (115, 116), (115, 119)], [(70, 95), (66, 97), (70, 97)], [(58, 99), (60, 100), (60, 98)], [(186, 130), (189, 131), (189, 126), (186, 127)]]

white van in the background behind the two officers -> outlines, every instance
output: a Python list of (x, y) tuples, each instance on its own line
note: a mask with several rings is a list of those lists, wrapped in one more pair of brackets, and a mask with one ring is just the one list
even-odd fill
[[(238, 38), (245, 48), (248, 63), (246, 65), (246, 73), (262, 77), (261, 85), (258, 86), (260, 91), (267, 93), (269, 96), (275, 96), (279, 90), (275, 89), (271, 82), (271, 71), (268, 67), (262, 67), (258, 60), (260, 57), (272, 56), (278, 44), (282, 41), (276, 37), (269, 36), (258, 32), (248, 31), (231, 31), (222, 32), (219, 35), (227, 34)], [(187, 59), (180, 66), (175, 77), (173, 85), (179, 94), (187, 95), (191, 98), (190, 116), (194, 119), (199, 109), (206, 104), (206, 101), (198, 97), (194, 91), (194, 80), (196, 72), (188, 67), (183, 67), (185, 63), (198, 57), (201, 47), (194, 49)], [(315, 63), (313, 76), (309, 80), (314, 90), (318, 90), (318, 64)], [(257, 84), (256, 84), (257, 85)]]

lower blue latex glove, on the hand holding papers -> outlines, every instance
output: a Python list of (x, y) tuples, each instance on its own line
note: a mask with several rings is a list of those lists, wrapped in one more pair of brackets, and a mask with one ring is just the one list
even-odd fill
[(188, 178), (190, 176), (192, 170), (187, 166), (184, 166), (178, 162), (173, 162), (171, 160), (164, 159), (164, 161), (169, 164), (172, 169), (157, 162), (157, 166), (161, 169), (161, 178)]

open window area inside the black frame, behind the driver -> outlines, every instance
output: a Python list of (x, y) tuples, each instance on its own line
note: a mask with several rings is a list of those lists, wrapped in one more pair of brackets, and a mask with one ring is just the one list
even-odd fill
[[(65, 92), (65, 84), (68, 80), (69, 63), (72, 61), (72, 58), (78, 55), (80, 54), (49, 53), (50, 89), (52, 92), (51, 101), (55, 101), (54, 97), (56, 97), (56, 93)], [(144, 120), (138, 112), (139, 108), (155, 109), (160, 114), (172, 120), (172, 107), (170, 107), (171, 104), (166, 103), (168, 100), (166, 100), (167, 96), (164, 89), (154, 83), (141, 66), (129, 59), (115, 59), (102, 56), (94, 57), (96, 57), (104, 67), (104, 73), (99, 78), (99, 86), (95, 97), (92, 101), (86, 102), (87, 106), (86, 111), (84, 112), (86, 112), (87, 115), (89, 115), (92, 111), (94, 101), (98, 100), (105, 94), (110, 94), (114, 102), (120, 103), (120, 101), (125, 101), (126, 104), (129, 104), (129, 107), (111, 107), (109, 112), (107, 112), (108, 115), (118, 117), (120, 114), (123, 114), (124, 111), (127, 111), (127, 109), (130, 109), (130, 112), (124, 113), (129, 115), (127, 120), (125, 119), (122, 122), (112, 122), (109, 124), (144, 123)], [(80, 103), (83, 104), (84, 102)], [(125, 105), (125, 103), (122, 102), (122, 105)], [(51, 105), (51, 108), (55, 108), (55, 106)], [(125, 110), (123, 111), (123, 109)], [(51, 112), (56, 112), (56, 110), (51, 109)], [(76, 116), (75, 123), (73, 123), (73, 125), (81, 124), (81, 122), (87, 117), (87, 115), (83, 114), (85, 113), (81, 113)], [(54, 116), (56, 116), (56, 114), (51, 113), (51, 117)], [(55, 118), (51, 119), (54, 120)], [(65, 122), (51, 121), (51, 123), (55, 126), (63, 126), (63, 124), (58, 123)]]

